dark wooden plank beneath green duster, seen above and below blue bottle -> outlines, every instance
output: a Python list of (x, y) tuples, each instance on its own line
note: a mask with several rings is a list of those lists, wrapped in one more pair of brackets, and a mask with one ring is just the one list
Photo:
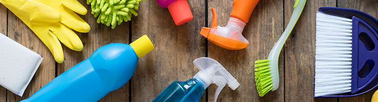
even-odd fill
[[(61, 74), (74, 65), (89, 58), (89, 56), (97, 48), (109, 43), (129, 43), (129, 22), (123, 22), (121, 25), (117, 25), (115, 29), (107, 27), (105, 24), (98, 24), (92, 14), (90, 14), (90, 5), (86, 4), (86, 1), (79, 1), (84, 7), (87, 8), (88, 14), (81, 17), (88, 22), (91, 27), (91, 31), (88, 33), (76, 34), (81, 38), (84, 44), (82, 52), (76, 52), (64, 46), (65, 61), (63, 64), (58, 64), (57, 74)], [(129, 83), (126, 83), (120, 89), (114, 90), (104, 96), (100, 101), (129, 101)]]

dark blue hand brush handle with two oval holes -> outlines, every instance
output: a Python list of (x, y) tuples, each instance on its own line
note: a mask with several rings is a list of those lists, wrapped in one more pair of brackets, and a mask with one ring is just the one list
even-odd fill
[[(378, 39), (376, 37), (376, 32), (365, 21), (353, 17), (352, 23), (351, 93), (354, 94), (366, 88), (378, 75), (378, 52), (375, 48), (378, 48)], [(359, 36), (363, 35), (365, 35), (365, 37), (360, 39)], [(366, 42), (367, 45), (365, 45), (363, 41)], [(372, 47), (374, 48), (371, 49)], [(371, 70), (363, 69), (364, 66)]]

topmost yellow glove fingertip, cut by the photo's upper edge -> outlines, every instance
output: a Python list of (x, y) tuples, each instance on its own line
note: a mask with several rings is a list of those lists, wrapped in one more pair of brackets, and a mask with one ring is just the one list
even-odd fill
[(87, 9), (76, 0), (63, 0), (63, 5), (78, 14), (87, 14)]

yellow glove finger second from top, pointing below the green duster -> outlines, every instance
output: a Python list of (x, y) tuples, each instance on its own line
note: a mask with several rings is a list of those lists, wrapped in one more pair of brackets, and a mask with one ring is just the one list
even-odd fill
[(66, 10), (67, 12), (62, 13), (62, 20), (61, 22), (67, 27), (81, 33), (88, 33), (91, 30), (89, 24), (84, 21), (81, 17), (79, 17), (76, 13)]

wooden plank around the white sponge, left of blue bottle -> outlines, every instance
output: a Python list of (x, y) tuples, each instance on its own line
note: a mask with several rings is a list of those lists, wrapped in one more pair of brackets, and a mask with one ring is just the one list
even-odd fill
[(21, 101), (34, 94), (55, 78), (55, 60), (50, 50), (11, 11), (8, 11), (8, 37), (41, 55), (44, 59), (25, 90), (23, 97), (7, 92), (7, 101)]

